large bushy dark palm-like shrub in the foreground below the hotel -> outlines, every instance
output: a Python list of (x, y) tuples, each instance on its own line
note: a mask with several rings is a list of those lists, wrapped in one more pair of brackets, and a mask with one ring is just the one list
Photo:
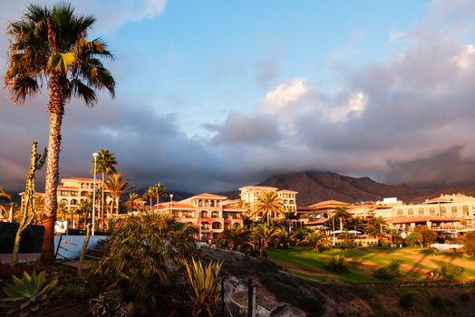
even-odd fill
[(92, 265), (92, 280), (101, 279), (151, 308), (182, 259), (196, 252), (195, 231), (167, 216), (123, 219), (108, 238), (102, 260)]

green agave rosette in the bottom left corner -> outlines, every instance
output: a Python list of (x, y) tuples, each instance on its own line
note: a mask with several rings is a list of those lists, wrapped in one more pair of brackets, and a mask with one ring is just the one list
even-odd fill
[(34, 272), (31, 276), (24, 272), (21, 280), (16, 276), (13, 279), (13, 283), (3, 288), (6, 297), (0, 299), (2, 306), (10, 308), (7, 314), (21, 317), (43, 315), (58, 280), (47, 281), (45, 271)]

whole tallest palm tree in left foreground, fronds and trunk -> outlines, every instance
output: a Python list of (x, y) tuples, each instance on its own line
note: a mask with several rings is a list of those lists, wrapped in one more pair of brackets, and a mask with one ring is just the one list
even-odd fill
[(10, 38), (5, 86), (15, 103), (24, 103), (48, 88), (50, 131), (44, 202), (44, 245), (42, 261), (54, 261), (54, 222), (56, 220), (64, 105), (79, 97), (87, 106), (97, 101), (95, 90), (107, 89), (114, 96), (115, 81), (102, 64), (113, 56), (101, 39), (89, 41), (88, 31), (95, 18), (74, 14), (71, 5), (28, 5), (20, 20), (7, 25)]

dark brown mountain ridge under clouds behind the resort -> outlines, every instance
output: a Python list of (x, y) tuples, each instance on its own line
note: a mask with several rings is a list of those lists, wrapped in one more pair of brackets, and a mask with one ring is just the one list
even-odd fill
[[(298, 191), (298, 206), (308, 206), (328, 199), (355, 203), (367, 200), (382, 200), (384, 197), (398, 197), (405, 203), (422, 202), (426, 198), (443, 194), (462, 193), (475, 197), (475, 186), (460, 188), (445, 186), (439, 189), (419, 189), (406, 184), (387, 185), (378, 183), (371, 178), (352, 178), (333, 172), (306, 171), (276, 175), (257, 184), (260, 186), (278, 187)], [(224, 196), (237, 198), (238, 191), (221, 193)]]

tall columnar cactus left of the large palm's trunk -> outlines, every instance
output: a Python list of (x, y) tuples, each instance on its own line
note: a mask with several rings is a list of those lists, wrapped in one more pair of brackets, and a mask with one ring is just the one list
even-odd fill
[(12, 254), (12, 260), (10, 261), (10, 266), (15, 266), (18, 263), (18, 251), (20, 250), (20, 241), (22, 239), (22, 232), (26, 229), (27, 226), (31, 225), (34, 219), (36, 218), (36, 211), (34, 208), (34, 173), (36, 170), (41, 169), (44, 166), (44, 161), (46, 159), (46, 149), (44, 149), (43, 154), (37, 154), (38, 142), (32, 142), (32, 151), (30, 154), (30, 168), (28, 174), (26, 175), (26, 185), (24, 188), (24, 203), (21, 208), (20, 224), (15, 235), (15, 245), (14, 252)]

